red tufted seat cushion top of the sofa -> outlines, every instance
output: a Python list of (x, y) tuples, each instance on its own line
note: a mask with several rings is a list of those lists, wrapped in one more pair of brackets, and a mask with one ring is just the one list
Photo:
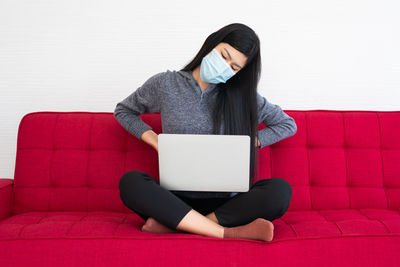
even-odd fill
[[(0, 221), (0, 240), (41, 238), (214, 239), (189, 233), (146, 233), (141, 231), (143, 223), (142, 218), (133, 212), (27, 212)], [(275, 226), (274, 239), (269, 243), (344, 236), (400, 235), (399, 212), (385, 209), (288, 211), (273, 223)], [(253, 242), (262, 241), (254, 240)]]

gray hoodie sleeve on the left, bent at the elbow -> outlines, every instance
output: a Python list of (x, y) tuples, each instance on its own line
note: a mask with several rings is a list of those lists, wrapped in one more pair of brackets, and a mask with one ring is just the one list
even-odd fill
[(114, 117), (129, 133), (139, 140), (145, 131), (153, 129), (143, 122), (139, 115), (160, 112), (160, 91), (167, 72), (157, 73), (148, 78), (142, 86), (117, 103)]

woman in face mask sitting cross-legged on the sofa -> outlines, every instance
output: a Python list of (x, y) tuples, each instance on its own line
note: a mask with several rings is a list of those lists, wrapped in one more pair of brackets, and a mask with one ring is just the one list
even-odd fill
[[(183, 69), (155, 74), (117, 104), (118, 122), (157, 151), (158, 135), (140, 114), (161, 112), (164, 133), (251, 138), (248, 192), (169, 191), (145, 172), (125, 173), (119, 182), (121, 200), (146, 221), (142, 231), (273, 239), (271, 221), (288, 209), (292, 188), (279, 177), (253, 184), (258, 148), (294, 135), (297, 127), (278, 105), (258, 94), (260, 72), (258, 36), (248, 26), (233, 23), (208, 36)], [(261, 122), (268, 128), (257, 131)]]

